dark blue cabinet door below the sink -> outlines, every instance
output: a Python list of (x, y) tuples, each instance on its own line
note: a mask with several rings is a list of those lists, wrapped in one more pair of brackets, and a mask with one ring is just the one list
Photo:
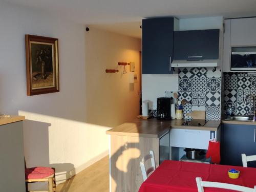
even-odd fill
[[(256, 125), (222, 124), (221, 164), (243, 166), (241, 154), (256, 155), (254, 132)], [(248, 162), (256, 167), (256, 162)]]

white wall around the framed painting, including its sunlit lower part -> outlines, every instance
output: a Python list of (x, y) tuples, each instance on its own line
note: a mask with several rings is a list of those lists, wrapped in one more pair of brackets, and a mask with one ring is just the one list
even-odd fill
[[(59, 173), (92, 163), (103, 152), (106, 155), (107, 128), (83, 123), (86, 119), (84, 26), (4, 2), (0, 2), (0, 26), (0, 112), (18, 114), (22, 110), (19, 114), (26, 116), (27, 166), (54, 165)], [(59, 93), (27, 96), (25, 34), (59, 39)], [(88, 139), (95, 132), (101, 145)], [(91, 146), (95, 147), (94, 152)]]

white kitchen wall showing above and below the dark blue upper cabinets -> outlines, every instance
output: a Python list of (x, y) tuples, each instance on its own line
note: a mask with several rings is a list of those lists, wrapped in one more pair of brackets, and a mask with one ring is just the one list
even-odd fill
[[(202, 17), (179, 19), (179, 30), (221, 29), (223, 17)], [(178, 30), (178, 28), (176, 28)], [(157, 105), (157, 97), (165, 96), (165, 91), (178, 91), (178, 74), (142, 75), (142, 101), (150, 100)]]

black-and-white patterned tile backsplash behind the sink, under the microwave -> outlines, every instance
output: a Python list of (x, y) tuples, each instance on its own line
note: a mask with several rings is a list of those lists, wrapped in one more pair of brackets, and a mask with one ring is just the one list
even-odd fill
[(237, 115), (253, 112), (252, 98), (245, 103), (247, 95), (256, 95), (256, 74), (224, 73), (224, 111), (231, 106)]

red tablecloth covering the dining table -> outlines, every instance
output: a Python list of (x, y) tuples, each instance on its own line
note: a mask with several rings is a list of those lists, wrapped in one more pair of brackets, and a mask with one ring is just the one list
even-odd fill
[[(240, 170), (238, 179), (228, 177), (228, 169)], [(190, 163), (165, 160), (155, 172), (144, 181), (139, 192), (196, 192), (196, 177), (203, 181), (213, 181), (243, 185), (253, 188), (256, 185), (256, 168)], [(205, 192), (229, 191), (220, 188), (205, 187)]]

